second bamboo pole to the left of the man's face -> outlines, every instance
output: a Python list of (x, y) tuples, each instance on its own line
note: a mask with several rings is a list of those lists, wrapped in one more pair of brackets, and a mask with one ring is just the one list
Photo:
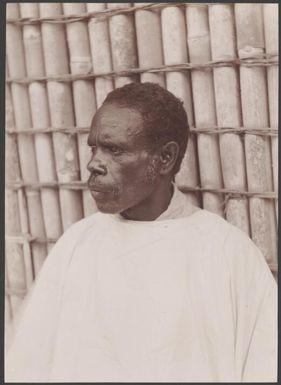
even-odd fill
[[(41, 17), (62, 14), (60, 3), (39, 3)], [(61, 75), (69, 72), (64, 25), (43, 23), (42, 38), (46, 74)], [(52, 126), (74, 126), (71, 85), (65, 82), (49, 81), (48, 96)], [(79, 162), (75, 137), (56, 132), (53, 134), (57, 176), (60, 182), (79, 180)], [(80, 191), (60, 188), (60, 204), (63, 229), (83, 216)]]

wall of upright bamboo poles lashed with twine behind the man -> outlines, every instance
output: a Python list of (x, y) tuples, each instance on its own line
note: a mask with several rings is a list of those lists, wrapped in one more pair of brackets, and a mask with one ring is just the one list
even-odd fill
[(177, 185), (276, 273), (277, 4), (9, 3), (6, 32), (7, 323), (54, 242), (96, 211), (89, 124), (132, 81), (183, 100), (192, 137)]

